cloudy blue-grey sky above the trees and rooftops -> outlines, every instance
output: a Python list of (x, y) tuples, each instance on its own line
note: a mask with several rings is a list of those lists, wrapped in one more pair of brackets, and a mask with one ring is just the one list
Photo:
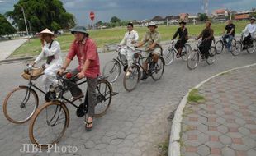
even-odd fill
[[(4, 1), (4, 2), (2, 2)], [(78, 25), (90, 23), (89, 12), (96, 14), (95, 21), (110, 21), (111, 16), (121, 20), (143, 20), (153, 16), (178, 15), (181, 12), (202, 12), (202, 0), (61, 0), (67, 11), (73, 13)], [(256, 7), (256, 0), (209, 0), (209, 10), (228, 8), (248, 10)], [(18, 0), (0, 0), (0, 13), (12, 11)]]

